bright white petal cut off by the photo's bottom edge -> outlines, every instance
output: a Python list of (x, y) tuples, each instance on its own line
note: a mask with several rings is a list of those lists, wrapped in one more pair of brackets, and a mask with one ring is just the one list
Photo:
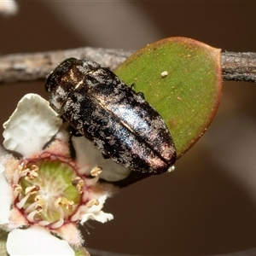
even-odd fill
[(7, 252), (15, 255), (75, 255), (68, 242), (52, 236), (42, 227), (32, 226), (27, 230), (9, 233)]

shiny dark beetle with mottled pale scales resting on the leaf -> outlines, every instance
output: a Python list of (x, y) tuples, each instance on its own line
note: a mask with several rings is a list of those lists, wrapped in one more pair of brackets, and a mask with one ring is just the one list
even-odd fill
[(69, 58), (46, 79), (49, 104), (102, 154), (132, 171), (172, 170), (176, 149), (164, 120), (107, 67)]

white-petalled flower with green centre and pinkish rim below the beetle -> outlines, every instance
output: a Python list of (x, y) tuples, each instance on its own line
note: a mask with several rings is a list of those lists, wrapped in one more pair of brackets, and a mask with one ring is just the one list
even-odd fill
[(113, 186), (97, 182), (102, 168), (90, 159), (90, 149), (87, 155), (79, 150), (88, 147), (84, 138), (73, 139), (77, 160), (71, 158), (61, 124), (49, 102), (34, 94), (24, 96), (3, 124), (4, 148), (14, 151), (0, 148), (0, 228), (9, 231), (11, 256), (74, 255), (84, 241), (79, 222), (113, 218), (102, 212)]

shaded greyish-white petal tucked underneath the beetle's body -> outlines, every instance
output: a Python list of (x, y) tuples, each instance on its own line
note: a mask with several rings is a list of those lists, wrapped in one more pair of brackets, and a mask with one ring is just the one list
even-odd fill
[(119, 166), (111, 159), (104, 159), (101, 151), (85, 137), (72, 137), (72, 142), (81, 174), (90, 174), (94, 166), (102, 167), (100, 177), (108, 181), (119, 181), (130, 174), (129, 169)]

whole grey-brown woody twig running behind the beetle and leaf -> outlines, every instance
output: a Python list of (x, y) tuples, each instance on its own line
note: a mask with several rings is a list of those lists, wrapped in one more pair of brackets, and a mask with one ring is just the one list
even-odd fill
[[(114, 70), (132, 53), (132, 50), (84, 47), (3, 55), (0, 56), (0, 84), (45, 79), (61, 61), (69, 57), (96, 61)], [(224, 81), (256, 82), (256, 53), (223, 52), (221, 60)]]

